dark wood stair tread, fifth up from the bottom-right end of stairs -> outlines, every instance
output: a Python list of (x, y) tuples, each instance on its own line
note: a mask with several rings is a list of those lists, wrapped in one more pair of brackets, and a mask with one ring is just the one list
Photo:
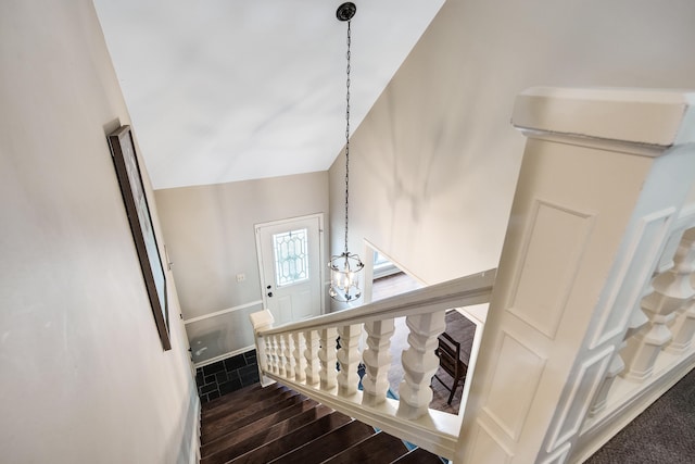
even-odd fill
[(283, 411), (293, 414), (270, 424), (267, 424), (266, 418), (257, 421), (247, 427), (231, 431), (225, 437), (211, 442), (210, 446), (203, 446), (201, 448), (203, 456), (201, 464), (226, 463), (332, 412), (330, 407), (318, 404), (313, 400), (306, 400)]

